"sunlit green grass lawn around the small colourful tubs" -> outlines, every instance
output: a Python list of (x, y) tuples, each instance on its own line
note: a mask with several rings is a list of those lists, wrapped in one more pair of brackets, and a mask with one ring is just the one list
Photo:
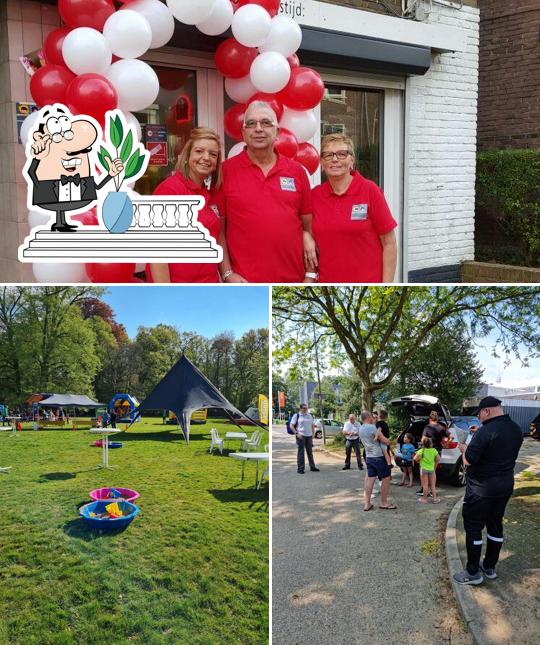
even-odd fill
[[(211, 427), (237, 430), (209, 420), (186, 445), (137, 423), (114, 437), (113, 470), (85, 430), (0, 433), (2, 645), (268, 642), (268, 485), (208, 453)], [(140, 493), (140, 515), (94, 533), (78, 507), (113, 485)]]

